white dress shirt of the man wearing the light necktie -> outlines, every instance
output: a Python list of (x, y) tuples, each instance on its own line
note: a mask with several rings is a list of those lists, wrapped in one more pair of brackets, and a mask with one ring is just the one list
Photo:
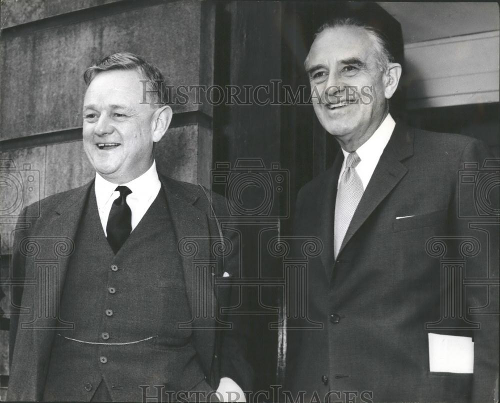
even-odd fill
[[(389, 142), (390, 136), (394, 131), (394, 126), (396, 123), (390, 114), (387, 114), (385, 119), (382, 121), (380, 126), (375, 130), (375, 132), (371, 135), (371, 137), (366, 140), (356, 151), (358, 157), (361, 159), (361, 162), (357, 164), (355, 170), (359, 175), (361, 182), (363, 184), (363, 190), (368, 186), (368, 182), (371, 179), (371, 175), (373, 175), (373, 171), (375, 170), (376, 164), (378, 164), (378, 160), (382, 155), (383, 149)], [(347, 160), (347, 155), (349, 152), (342, 149), (342, 153), (344, 155), (344, 160), (342, 163), (342, 169), (340, 170), (340, 175), (338, 176), (338, 184), (340, 183), (340, 178), (342, 177), (343, 171), (345, 170), (345, 162)]]

